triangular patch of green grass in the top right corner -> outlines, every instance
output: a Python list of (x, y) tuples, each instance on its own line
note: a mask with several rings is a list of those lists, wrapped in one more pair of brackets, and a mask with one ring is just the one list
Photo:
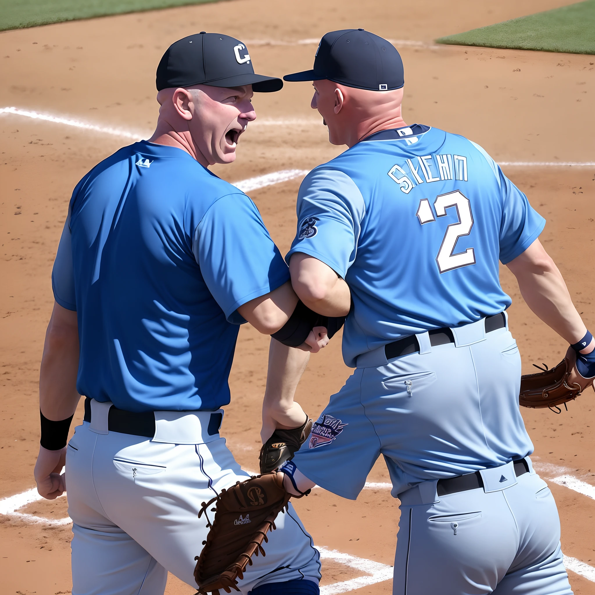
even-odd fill
[(440, 37), (436, 42), (487, 48), (536, 49), (566, 54), (595, 54), (595, 0)]

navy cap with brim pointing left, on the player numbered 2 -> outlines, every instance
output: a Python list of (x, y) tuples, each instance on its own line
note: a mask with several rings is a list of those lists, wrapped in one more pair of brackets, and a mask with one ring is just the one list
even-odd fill
[(327, 33), (318, 44), (314, 68), (283, 77), (286, 81), (322, 79), (371, 91), (400, 89), (405, 84), (399, 52), (364, 29)]

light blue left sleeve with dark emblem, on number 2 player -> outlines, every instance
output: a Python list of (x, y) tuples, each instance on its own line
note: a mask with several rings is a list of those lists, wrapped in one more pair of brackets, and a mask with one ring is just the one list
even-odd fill
[(364, 197), (342, 171), (317, 168), (303, 180), (297, 195), (297, 233), (285, 259), (303, 252), (345, 278), (355, 261)]

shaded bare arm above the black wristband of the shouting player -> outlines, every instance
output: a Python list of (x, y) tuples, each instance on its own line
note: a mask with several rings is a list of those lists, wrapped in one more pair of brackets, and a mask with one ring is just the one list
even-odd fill
[(59, 421), (74, 413), (80, 399), (76, 390), (78, 369), (76, 312), (55, 304), (39, 372), (39, 408), (46, 418)]

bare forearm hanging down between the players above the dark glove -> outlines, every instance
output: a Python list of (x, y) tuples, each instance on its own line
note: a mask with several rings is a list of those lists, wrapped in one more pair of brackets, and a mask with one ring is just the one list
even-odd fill
[(306, 414), (293, 396), (309, 357), (308, 351), (287, 347), (271, 339), (267, 388), (262, 402), (263, 443), (276, 428), (296, 428), (303, 424)]

